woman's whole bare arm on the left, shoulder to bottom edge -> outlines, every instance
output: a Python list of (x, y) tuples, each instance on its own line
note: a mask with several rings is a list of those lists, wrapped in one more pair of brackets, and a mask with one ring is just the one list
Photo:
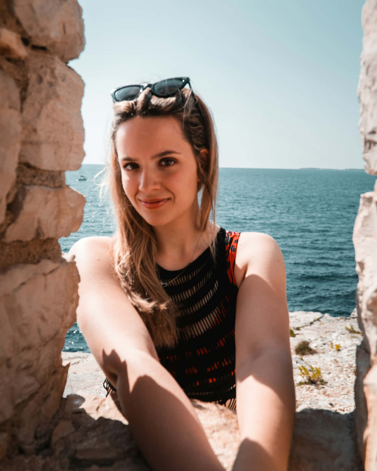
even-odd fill
[(147, 328), (111, 267), (106, 237), (74, 244), (80, 273), (77, 321), (115, 385), (123, 414), (154, 470), (223, 470), (190, 400), (159, 363)]

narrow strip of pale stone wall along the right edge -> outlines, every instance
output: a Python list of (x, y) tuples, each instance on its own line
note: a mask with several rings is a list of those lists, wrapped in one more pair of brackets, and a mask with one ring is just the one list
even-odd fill
[[(359, 81), (360, 122), (365, 170), (377, 175), (377, 0), (362, 9), (364, 29)], [(356, 303), (364, 340), (356, 355), (356, 429), (365, 470), (377, 470), (377, 183), (361, 195), (353, 230)]]

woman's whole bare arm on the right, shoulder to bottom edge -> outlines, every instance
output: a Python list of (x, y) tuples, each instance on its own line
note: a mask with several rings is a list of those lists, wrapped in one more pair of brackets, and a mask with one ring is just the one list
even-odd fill
[(295, 420), (286, 273), (275, 240), (241, 234), (236, 257), (237, 416), (234, 471), (285, 471)]

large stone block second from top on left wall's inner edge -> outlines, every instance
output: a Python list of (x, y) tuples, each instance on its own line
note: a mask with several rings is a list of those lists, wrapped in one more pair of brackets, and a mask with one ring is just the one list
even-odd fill
[(77, 170), (84, 158), (84, 82), (71, 67), (42, 52), (31, 52), (25, 65), (19, 161), (45, 170)]

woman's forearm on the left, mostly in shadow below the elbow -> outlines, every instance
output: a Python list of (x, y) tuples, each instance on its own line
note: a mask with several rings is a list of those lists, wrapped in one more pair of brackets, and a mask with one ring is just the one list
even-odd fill
[(118, 373), (118, 398), (152, 468), (223, 471), (194, 407), (171, 374), (144, 351), (128, 357)]

